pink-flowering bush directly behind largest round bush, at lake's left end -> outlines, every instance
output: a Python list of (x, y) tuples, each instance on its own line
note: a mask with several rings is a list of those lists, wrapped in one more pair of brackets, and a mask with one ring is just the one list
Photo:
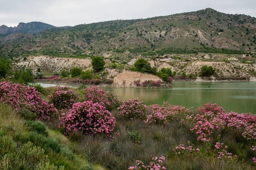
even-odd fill
[(97, 86), (86, 88), (84, 89), (83, 93), (85, 101), (99, 103), (107, 109), (110, 109), (112, 106), (118, 107), (120, 105), (120, 100), (116, 94), (109, 91), (104, 91), (102, 88)]

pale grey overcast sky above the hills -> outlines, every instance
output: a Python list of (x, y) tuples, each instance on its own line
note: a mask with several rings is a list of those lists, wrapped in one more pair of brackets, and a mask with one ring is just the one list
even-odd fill
[(256, 0), (0, 0), (0, 26), (41, 21), (75, 26), (164, 16), (204, 8), (256, 17)]

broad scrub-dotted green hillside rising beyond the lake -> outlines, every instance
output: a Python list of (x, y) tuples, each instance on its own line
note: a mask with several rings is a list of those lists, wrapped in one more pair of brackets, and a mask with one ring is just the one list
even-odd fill
[(15, 59), (28, 55), (87, 57), (108, 53), (125, 59), (142, 53), (244, 54), (255, 53), (255, 37), (255, 17), (206, 8), (147, 19), (50, 28), (34, 35), (10, 34), (0, 38), (0, 56)]

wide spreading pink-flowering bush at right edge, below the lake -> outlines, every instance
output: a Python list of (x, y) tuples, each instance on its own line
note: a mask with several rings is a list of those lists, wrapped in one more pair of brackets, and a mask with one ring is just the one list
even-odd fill
[(251, 113), (226, 113), (216, 104), (205, 104), (198, 108), (198, 114), (187, 115), (186, 120), (194, 126), (191, 130), (198, 135), (198, 141), (210, 141), (213, 133), (223, 129), (243, 130), (244, 138), (256, 138), (256, 115)]

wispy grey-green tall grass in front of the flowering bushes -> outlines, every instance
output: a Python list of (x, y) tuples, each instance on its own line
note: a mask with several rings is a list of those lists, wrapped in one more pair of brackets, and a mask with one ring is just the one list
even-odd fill
[[(79, 152), (88, 156), (90, 161), (101, 164), (110, 170), (126, 170), (132, 165), (136, 165), (136, 160), (142, 160), (145, 164), (152, 161), (157, 156), (166, 156), (165, 167), (167, 170), (248, 170), (255, 167), (247, 161), (246, 143), (242, 143), (241, 133), (230, 131), (222, 132), (224, 138), (221, 142), (228, 145), (229, 151), (233, 154), (244, 155), (244, 160), (226, 160), (217, 159), (213, 156), (212, 143), (197, 142), (192, 128), (188, 123), (181, 122), (176, 117), (172, 122), (166, 125), (145, 125), (143, 120), (130, 120), (119, 116), (117, 111), (112, 111), (116, 118), (115, 130), (120, 135), (115, 139), (106, 139), (104, 136), (82, 136), (80, 139)], [(138, 131), (142, 140), (134, 142), (129, 133)], [(217, 136), (216, 136), (217, 139)], [(184, 144), (187, 147), (188, 141), (195, 144), (195, 147), (201, 149), (197, 156), (185, 153), (183, 156), (177, 156), (172, 149), (178, 144)], [(215, 143), (214, 143), (215, 142)]]

